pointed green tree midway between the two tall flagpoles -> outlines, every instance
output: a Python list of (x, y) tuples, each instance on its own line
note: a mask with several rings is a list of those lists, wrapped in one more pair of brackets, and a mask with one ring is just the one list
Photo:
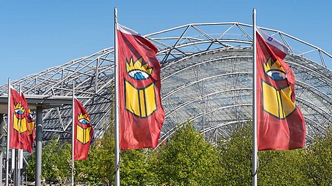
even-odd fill
[(152, 168), (159, 185), (219, 185), (216, 177), (218, 152), (192, 123), (179, 126), (166, 145), (159, 147), (151, 157)]

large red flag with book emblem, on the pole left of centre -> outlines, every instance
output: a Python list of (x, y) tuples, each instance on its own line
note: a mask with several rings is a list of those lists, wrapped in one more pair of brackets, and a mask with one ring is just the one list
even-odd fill
[(156, 147), (165, 112), (157, 48), (118, 24), (120, 149)]

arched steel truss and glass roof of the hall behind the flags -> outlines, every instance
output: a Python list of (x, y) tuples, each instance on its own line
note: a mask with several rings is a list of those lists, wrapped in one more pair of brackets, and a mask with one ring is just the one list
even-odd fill
[[(291, 48), (286, 62), (296, 78), (296, 103), (306, 121), (307, 143), (332, 123), (332, 56), (284, 32), (261, 28)], [(252, 118), (252, 25), (193, 23), (147, 34), (162, 65), (166, 118), (160, 141), (188, 120), (214, 143)], [(114, 48), (12, 81), (25, 94), (76, 96), (91, 115), (95, 138), (112, 125)], [(8, 85), (0, 86), (0, 94)], [(43, 140), (71, 139), (71, 106), (44, 110)], [(178, 125), (180, 124), (180, 125)]]

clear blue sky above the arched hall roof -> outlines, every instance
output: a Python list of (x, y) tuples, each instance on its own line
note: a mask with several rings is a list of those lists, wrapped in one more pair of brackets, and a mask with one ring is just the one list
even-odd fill
[[(113, 46), (118, 22), (142, 35), (187, 23), (230, 22), (281, 30), (332, 54), (332, 1), (16, 0), (0, 3), (0, 85)], [(332, 66), (332, 64), (328, 64)]]

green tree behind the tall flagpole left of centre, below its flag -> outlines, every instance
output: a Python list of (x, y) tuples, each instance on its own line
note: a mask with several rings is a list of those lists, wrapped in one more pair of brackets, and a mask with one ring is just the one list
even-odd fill
[[(86, 185), (113, 185), (115, 179), (114, 127), (91, 145), (86, 161), (75, 161), (75, 182)], [(147, 149), (120, 152), (120, 185), (152, 185)]]

